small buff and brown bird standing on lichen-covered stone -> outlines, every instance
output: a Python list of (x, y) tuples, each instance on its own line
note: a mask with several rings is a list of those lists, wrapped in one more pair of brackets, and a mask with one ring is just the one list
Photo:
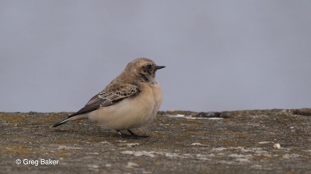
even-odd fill
[[(82, 109), (52, 127), (88, 118), (98, 121), (105, 129), (116, 130), (124, 138), (148, 137), (139, 136), (131, 129), (155, 119), (162, 103), (162, 90), (155, 81), (155, 72), (161, 68), (165, 66), (157, 66), (148, 58), (134, 59)], [(125, 130), (130, 135), (121, 132)]]

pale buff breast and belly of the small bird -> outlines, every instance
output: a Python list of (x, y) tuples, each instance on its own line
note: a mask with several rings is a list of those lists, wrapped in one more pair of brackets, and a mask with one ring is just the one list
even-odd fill
[(107, 129), (127, 130), (150, 124), (160, 108), (162, 90), (158, 84), (142, 84), (141, 92), (111, 106), (88, 113)]

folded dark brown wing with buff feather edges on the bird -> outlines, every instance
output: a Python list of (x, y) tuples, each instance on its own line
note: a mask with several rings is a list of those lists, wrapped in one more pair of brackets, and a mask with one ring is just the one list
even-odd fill
[(91, 100), (89, 100), (82, 109), (70, 115), (69, 117), (85, 114), (94, 111), (100, 107), (110, 106), (126, 98), (135, 96), (139, 92), (140, 92), (139, 88), (131, 84), (122, 86), (122, 89), (119, 91), (105, 92), (104, 90), (96, 94), (94, 97), (92, 97)]

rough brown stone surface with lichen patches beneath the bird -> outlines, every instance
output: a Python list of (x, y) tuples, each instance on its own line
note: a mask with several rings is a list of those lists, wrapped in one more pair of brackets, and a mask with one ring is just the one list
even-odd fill
[(311, 109), (159, 112), (142, 139), (88, 120), (50, 129), (68, 115), (0, 113), (0, 173), (311, 173)]

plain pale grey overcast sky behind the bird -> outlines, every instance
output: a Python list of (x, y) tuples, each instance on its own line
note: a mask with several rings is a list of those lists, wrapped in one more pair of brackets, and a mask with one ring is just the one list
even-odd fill
[(135, 58), (160, 110), (311, 107), (311, 0), (0, 0), (0, 111), (78, 111)]

